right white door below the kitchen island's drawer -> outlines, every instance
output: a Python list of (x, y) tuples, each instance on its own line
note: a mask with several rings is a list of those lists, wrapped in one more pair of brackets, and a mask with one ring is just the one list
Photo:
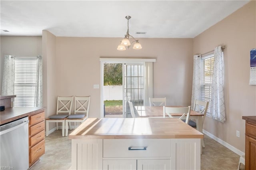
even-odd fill
[(137, 170), (170, 170), (170, 159), (138, 160)]

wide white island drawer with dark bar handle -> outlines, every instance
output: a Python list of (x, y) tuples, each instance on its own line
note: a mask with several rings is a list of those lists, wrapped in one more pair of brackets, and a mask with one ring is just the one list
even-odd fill
[(104, 139), (103, 157), (170, 157), (170, 139)]

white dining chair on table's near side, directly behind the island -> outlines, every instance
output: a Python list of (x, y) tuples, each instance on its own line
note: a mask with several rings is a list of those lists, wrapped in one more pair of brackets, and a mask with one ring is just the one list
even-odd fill
[(188, 107), (164, 106), (163, 107), (164, 118), (165, 118), (165, 114), (167, 114), (170, 118), (173, 118), (171, 114), (182, 113), (183, 115), (179, 119), (185, 119), (186, 118), (185, 123), (188, 124), (189, 116), (190, 116), (190, 110), (191, 110), (191, 106), (188, 106)]

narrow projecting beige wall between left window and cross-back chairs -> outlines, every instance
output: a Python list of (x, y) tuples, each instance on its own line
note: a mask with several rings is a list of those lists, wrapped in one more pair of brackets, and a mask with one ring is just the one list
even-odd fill
[[(56, 114), (57, 89), (56, 85), (56, 36), (48, 31), (42, 32), (43, 49), (43, 105), (46, 117)], [(55, 127), (50, 123), (49, 129)]]

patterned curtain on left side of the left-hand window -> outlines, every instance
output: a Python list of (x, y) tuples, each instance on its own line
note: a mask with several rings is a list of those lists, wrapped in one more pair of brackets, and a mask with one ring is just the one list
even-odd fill
[(15, 57), (4, 55), (4, 70), (1, 95), (14, 95)]

